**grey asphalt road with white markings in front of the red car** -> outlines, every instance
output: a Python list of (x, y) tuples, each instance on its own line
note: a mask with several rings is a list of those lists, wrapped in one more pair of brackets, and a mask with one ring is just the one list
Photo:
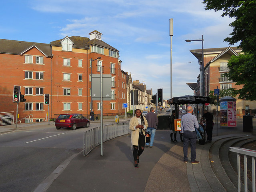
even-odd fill
[(34, 191), (64, 160), (83, 150), (83, 132), (99, 126), (100, 121), (89, 128), (57, 130), (51, 122), (0, 133), (0, 191)]

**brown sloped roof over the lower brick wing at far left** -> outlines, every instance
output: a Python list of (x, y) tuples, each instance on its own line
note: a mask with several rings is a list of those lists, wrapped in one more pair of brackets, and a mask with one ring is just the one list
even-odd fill
[(36, 47), (47, 57), (52, 57), (50, 44), (0, 39), (0, 45), (0, 53), (19, 55), (30, 48)]

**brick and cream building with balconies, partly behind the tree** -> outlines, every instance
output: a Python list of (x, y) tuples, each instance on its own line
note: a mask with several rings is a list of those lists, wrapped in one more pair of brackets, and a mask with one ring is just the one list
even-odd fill
[[(190, 50), (190, 52), (198, 59), (201, 60), (202, 49)], [(238, 56), (243, 54), (241, 48), (237, 47), (224, 47), (224, 48), (209, 48), (204, 49), (204, 92), (205, 96), (209, 96), (210, 91), (214, 89), (228, 89), (228, 88), (242, 88), (242, 85), (236, 85), (236, 83), (224, 77), (223, 74), (229, 71), (228, 60), (232, 55)], [(195, 95), (200, 95), (200, 76), (197, 77), (197, 83), (188, 84), (192, 90), (195, 91)], [(244, 114), (244, 110), (256, 109), (255, 101), (241, 100), (236, 98), (237, 115)], [(216, 109), (215, 106), (209, 106), (209, 110)]]

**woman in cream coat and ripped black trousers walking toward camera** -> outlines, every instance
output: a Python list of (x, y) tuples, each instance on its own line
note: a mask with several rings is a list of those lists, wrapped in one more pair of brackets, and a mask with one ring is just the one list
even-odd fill
[(130, 120), (131, 142), (133, 145), (134, 166), (138, 168), (139, 156), (144, 151), (146, 137), (145, 130), (148, 128), (148, 122), (142, 116), (141, 110), (135, 110), (135, 116)]

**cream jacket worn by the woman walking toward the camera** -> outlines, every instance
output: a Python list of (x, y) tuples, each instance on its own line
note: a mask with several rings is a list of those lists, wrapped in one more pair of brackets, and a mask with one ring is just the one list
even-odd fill
[[(144, 121), (145, 121), (145, 127), (148, 128), (148, 122), (147, 122), (145, 117), (143, 117), (143, 118), (144, 118)], [(138, 145), (140, 131), (139, 131), (139, 129), (134, 128), (138, 124), (139, 124), (139, 122), (138, 122), (136, 116), (134, 116), (130, 119), (129, 128), (130, 128), (130, 130), (132, 130), (131, 131), (132, 145)], [(145, 135), (145, 130), (144, 129), (142, 129), (142, 133)], [(145, 137), (145, 142), (146, 142), (146, 137)]]

